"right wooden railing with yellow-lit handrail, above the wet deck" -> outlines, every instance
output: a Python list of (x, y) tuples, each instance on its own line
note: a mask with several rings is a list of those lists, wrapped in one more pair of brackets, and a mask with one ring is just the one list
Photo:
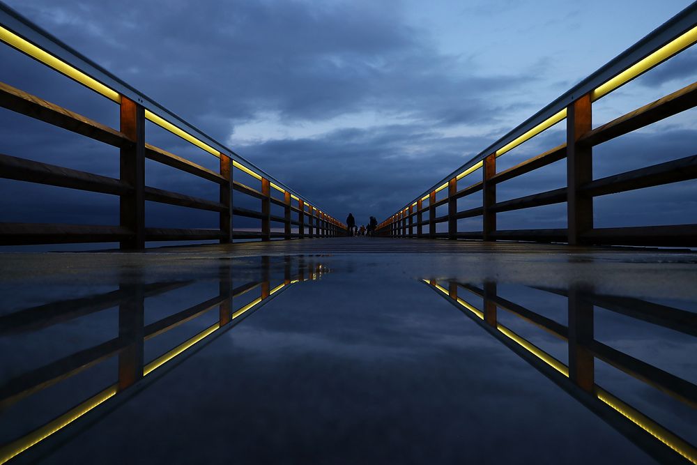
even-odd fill
[[(697, 83), (694, 83), (618, 119), (592, 128), (592, 103), (693, 45), (697, 41), (696, 24), (697, 3), (692, 3), (659, 29), (378, 224), (378, 234), (484, 241), (566, 242), (572, 245), (697, 246), (697, 224), (618, 228), (596, 228), (593, 224), (595, 197), (694, 179), (697, 177), (697, 155), (599, 179), (593, 178), (592, 169), (594, 146), (697, 105)], [(496, 171), (496, 158), (564, 120), (567, 125), (566, 144), (551, 148), (505, 171)], [(567, 160), (566, 187), (497, 201), (496, 185), (499, 183), (563, 159)], [(482, 172), (482, 181), (464, 187), (458, 185), (462, 178), (479, 170)], [(436, 201), (436, 194), (445, 189), (447, 197)], [(458, 199), (480, 191), (482, 206), (458, 211)], [(496, 228), (496, 213), (565, 202), (565, 229)], [(436, 208), (445, 205), (447, 215), (436, 217)], [(424, 214), (427, 219), (423, 218)], [(457, 220), (475, 217), (482, 218), (482, 231), (458, 231)], [(436, 224), (439, 223), (447, 223), (447, 233), (436, 232)]]

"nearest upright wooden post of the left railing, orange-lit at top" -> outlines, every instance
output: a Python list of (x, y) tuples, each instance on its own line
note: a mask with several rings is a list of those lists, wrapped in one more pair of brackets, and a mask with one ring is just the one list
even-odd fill
[(121, 241), (121, 250), (145, 248), (145, 109), (121, 97), (121, 132), (134, 144), (120, 151), (121, 181), (133, 190), (121, 195), (119, 217), (121, 227), (132, 236)]

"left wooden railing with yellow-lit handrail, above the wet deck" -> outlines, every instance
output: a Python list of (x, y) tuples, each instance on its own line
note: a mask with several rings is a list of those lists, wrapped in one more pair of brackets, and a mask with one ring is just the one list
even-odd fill
[[(118, 242), (122, 249), (142, 249), (146, 241), (217, 240), (220, 243), (228, 243), (233, 241), (233, 238), (269, 241), (272, 238), (343, 235), (345, 225), (342, 222), (319, 210), (298, 192), (61, 43), (3, 3), (0, 3), (0, 40), (116, 102), (120, 107), (121, 123), (119, 130), (115, 130), (0, 83), (0, 106), (117, 147), (120, 149), (121, 158), (120, 177), (110, 178), (0, 154), (2, 178), (115, 195), (120, 202), (118, 226), (0, 222), (0, 245)], [(146, 121), (219, 158), (220, 169), (207, 169), (147, 144)], [(146, 159), (219, 185), (220, 199), (211, 201), (145, 185)], [(259, 189), (233, 181), (234, 169), (260, 181)], [(259, 199), (261, 208), (257, 211), (233, 207), (232, 191)], [(273, 191), (279, 192), (282, 198), (273, 197)], [(146, 201), (217, 212), (220, 216), (220, 227), (146, 228)], [(271, 204), (281, 206), (284, 215), (272, 215)], [(297, 217), (293, 219), (295, 214)], [(234, 231), (232, 224), (235, 216), (261, 220), (261, 231)], [(283, 232), (273, 232), (273, 222), (283, 224)], [(297, 232), (293, 232), (293, 226), (298, 228)]]

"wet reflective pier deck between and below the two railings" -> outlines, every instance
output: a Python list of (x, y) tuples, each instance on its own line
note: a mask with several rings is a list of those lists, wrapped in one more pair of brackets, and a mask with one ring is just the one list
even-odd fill
[(691, 252), (517, 243), (2, 254), (0, 462), (689, 463), (695, 283)]

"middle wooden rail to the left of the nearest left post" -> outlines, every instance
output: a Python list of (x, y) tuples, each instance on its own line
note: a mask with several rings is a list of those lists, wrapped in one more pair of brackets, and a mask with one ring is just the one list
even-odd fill
[(0, 154), (0, 177), (112, 195), (132, 190), (127, 183), (115, 178), (3, 154)]

